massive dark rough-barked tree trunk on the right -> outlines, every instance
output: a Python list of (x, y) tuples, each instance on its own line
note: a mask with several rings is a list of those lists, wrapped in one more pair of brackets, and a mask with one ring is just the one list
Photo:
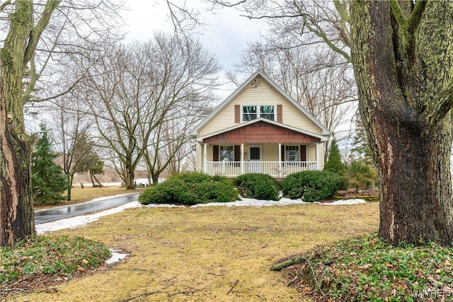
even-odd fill
[(450, 245), (453, 5), (409, 5), (398, 12), (388, 1), (357, 1), (351, 10), (360, 114), (379, 176), (379, 235), (394, 245)]

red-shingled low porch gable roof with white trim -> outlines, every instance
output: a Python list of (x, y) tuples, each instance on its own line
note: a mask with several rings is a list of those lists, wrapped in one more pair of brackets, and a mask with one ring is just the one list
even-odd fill
[(306, 143), (326, 142), (327, 138), (283, 123), (257, 118), (197, 138), (204, 143)]

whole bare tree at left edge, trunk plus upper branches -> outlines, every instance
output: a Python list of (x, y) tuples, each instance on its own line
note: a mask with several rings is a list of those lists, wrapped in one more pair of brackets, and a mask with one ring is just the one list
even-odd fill
[[(108, 36), (106, 28), (112, 25), (108, 19), (118, 8), (117, 4), (101, 0), (78, 4), (22, 0), (0, 4), (0, 28), (6, 33), (0, 47), (1, 245), (35, 235), (30, 160), (36, 139), (25, 133), (23, 106), (33, 99), (38, 87), (40, 92), (51, 90), (45, 81), (38, 84), (38, 80), (46, 75), (51, 79), (52, 74), (46, 74), (47, 67), (50, 62), (59, 63), (57, 54), (69, 51), (64, 45), (74, 51), (80, 40), (99, 42), (99, 38)], [(75, 23), (80, 20), (85, 21), (83, 25)], [(67, 31), (69, 28), (71, 31)]]

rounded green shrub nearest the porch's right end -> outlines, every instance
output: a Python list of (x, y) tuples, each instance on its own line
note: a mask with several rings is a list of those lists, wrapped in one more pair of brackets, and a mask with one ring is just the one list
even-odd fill
[(304, 171), (288, 175), (282, 181), (283, 196), (302, 201), (321, 201), (340, 186), (340, 176), (328, 171)]

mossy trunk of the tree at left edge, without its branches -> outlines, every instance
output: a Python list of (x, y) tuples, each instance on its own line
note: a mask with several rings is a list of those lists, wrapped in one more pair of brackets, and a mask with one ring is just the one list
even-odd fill
[(23, 123), (22, 79), (33, 18), (31, 1), (18, 1), (0, 57), (0, 198), (1, 245), (34, 236), (30, 185), (33, 142)]

